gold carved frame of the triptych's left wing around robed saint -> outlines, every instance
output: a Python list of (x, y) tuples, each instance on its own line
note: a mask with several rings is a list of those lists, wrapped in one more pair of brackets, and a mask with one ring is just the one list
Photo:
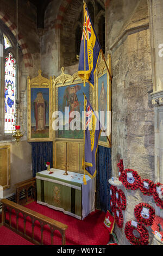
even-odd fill
[[(53, 141), (52, 134), (52, 77), (48, 80), (47, 78), (41, 75), (41, 70), (38, 71), (38, 76), (30, 80), (28, 76), (28, 141), (36, 142), (36, 141)], [(32, 88), (49, 88), (49, 137), (41, 137), (41, 138), (32, 138), (31, 132), (31, 89)]]

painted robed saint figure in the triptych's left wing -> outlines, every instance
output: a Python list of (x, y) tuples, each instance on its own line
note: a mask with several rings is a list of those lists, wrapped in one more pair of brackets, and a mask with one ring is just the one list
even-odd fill
[(37, 93), (34, 100), (34, 114), (36, 120), (36, 131), (43, 131), (46, 127), (46, 101), (41, 92)]

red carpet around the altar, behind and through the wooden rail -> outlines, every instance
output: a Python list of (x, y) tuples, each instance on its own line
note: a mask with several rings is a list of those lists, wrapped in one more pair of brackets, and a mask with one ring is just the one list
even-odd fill
[[(105, 218), (104, 212), (96, 210), (87, 216), (84, 221), (80, 221), (77, 218), (65, 215), (63, 212), (55, 211), (47, 206), (37, 204), (36, 202), (26, 205), (26, 208), (67, 224), (66, 245), (106, 245), (109, 241), (109, 232), (103, 226)], [(7, 215), (7, 219), (9, 220), (9, 215)], [(14, 212), (11, 216), (11, 223), (16, 227), (16, 215)], [(23, 216), (21, 214), (18, 227), (19, 230), (23, 231)], [(32, 234), (32, 222), (30, 218), (28, 218), (26, 223), (26, 233), (29, 236)], [(35, 222), (34, 238), (37, 241), (41, 238), (39, 222)], [(51, 245), (51, 233), (49, 232), (48, 226), (45, 226), (43, 230), (43, 244)], [(59, 231), (55, 231), (54, 233), (54, 245), (61, 245), (61, 235)]]

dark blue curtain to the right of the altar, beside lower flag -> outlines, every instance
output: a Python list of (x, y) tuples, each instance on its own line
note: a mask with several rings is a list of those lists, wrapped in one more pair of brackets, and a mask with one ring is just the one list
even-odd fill
[(96, 208), (102, 211), (110, 209), (111, 149), (98, 146), (96, 175)]

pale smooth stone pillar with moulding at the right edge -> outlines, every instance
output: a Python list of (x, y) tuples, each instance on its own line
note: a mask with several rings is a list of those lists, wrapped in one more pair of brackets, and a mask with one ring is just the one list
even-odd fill
[(163, 183), (163, 4), (148, 0), (151, 31), (153, 93), (155, 116), (155, 182)]

